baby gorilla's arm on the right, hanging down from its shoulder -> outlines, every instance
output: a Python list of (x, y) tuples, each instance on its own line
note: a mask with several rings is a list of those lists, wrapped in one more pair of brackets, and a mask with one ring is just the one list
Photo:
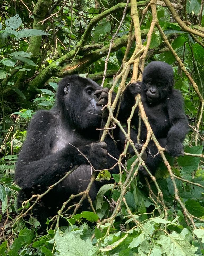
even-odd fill
[(175, 157), (183, 155), (182, 142), (188, 133), (188, 120), (183, 110), (183, 98), (179, 90), (173, 89), (166, 99), (171, 128), (167, 134), (167, 152)]

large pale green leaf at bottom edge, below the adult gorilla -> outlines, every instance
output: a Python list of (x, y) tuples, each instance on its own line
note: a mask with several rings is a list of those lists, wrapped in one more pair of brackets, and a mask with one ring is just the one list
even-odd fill
[(74, 235), (70, 232), (60, 235), (57, 231), (54, 239), (59, 256), (92, 256), (97, 250), (90, 239), (83, 241), (79, 234)]

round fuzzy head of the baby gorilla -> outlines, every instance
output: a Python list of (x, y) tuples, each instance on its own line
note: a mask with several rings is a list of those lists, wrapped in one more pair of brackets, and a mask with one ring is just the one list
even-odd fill
[(165, 99), (173, 85), (173, 69), (169, 64), (153, 61), (144, 69), (141, 87), (148, 103), (158, 103)]

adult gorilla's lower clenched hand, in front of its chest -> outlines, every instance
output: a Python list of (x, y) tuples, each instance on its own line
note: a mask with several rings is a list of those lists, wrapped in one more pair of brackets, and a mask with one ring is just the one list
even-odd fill
[(87, 158), (93, 165), (95, 170), (104, 169), (104, 165), (107, 162), (107, 145), (105, 142), (92, 142), (88, 145)]

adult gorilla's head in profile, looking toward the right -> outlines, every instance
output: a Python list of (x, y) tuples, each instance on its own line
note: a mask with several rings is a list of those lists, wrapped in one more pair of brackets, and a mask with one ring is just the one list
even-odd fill
[(60, 81), (57, 102), (62, 106), (69, 124), (78, 129), (100, 127), (102, 106), (97, 104), (99, 98), (94, 95), (99, 89), (100, 86), (94, 81), (77, 75), (65, 77)]

